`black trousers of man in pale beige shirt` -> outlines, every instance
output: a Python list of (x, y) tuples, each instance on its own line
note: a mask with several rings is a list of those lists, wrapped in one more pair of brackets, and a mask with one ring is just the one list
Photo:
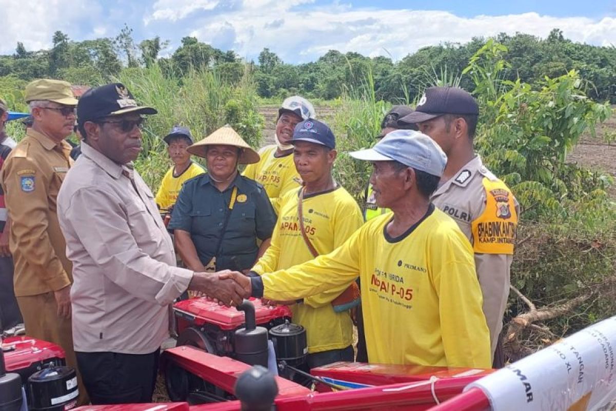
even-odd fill
[(152, 402), (160, 349), (151, 354), (75, 354), (92, 405)]

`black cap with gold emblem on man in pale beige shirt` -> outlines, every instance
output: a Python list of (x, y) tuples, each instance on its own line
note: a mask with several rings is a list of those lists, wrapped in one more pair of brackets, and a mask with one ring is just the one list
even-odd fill
[(134, 97), (124, 84), (111, 83), (86, 91), (77, 105), (77, 121), (97, 120), (126, 113), (156, 114), (155, 108), (137, 105)]

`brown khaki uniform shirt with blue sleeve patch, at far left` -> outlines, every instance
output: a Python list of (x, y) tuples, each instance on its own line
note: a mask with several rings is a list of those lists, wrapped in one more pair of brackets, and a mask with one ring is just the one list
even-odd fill
[(60, 185), (73, 165), (70, 152), (67, 142), (30, 128), (2, 166), (16, 296), (57, 291), (73, 282), (56, 213)]

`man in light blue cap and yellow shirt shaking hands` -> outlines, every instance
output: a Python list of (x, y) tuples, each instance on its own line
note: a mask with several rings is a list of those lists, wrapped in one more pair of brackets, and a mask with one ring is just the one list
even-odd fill
[(278, 299), (341, 290), (359, 276), (370, 362), (489, 368), (490, 334), (471, 245), (430, 202), (447, 157), (430, 137), (410, 130), (391, 132), (352, 156), (373, 162), (376, 203), (392, 213), (299, 266), (229, 276), (246, 295)]

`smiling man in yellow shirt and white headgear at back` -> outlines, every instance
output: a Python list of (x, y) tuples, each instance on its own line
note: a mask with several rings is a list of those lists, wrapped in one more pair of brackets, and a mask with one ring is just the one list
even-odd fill
[(309, 118), (315, 118), (314, 107), (303, 97), (291, 96), (278, 109), (275, 145), (266, 145), (259, 150), (261, 160), (246, 166), (243, 175), (265, 187), (267, 197), (278, 213), (279, 201), (286, 192), (301, 185), (298, 171), (293, 164), (293, 137), (295, 126)]

